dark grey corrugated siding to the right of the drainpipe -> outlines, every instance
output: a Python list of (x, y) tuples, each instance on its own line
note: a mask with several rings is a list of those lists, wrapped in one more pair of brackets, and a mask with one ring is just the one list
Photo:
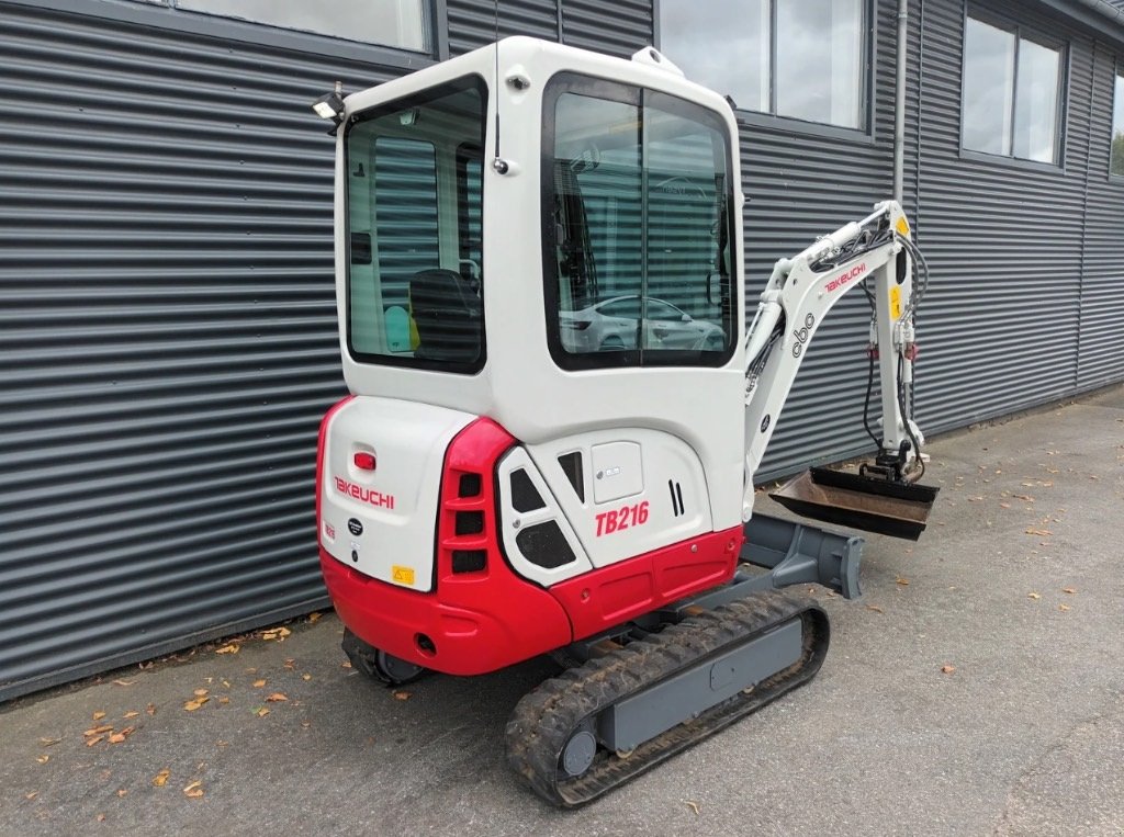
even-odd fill
[[(971, 8), (1012, 13), (998, 2)], [(1026, 4), (1016, 13), (1067, 43), (1057, 167), (960, 151), (962, 3), (926, 0), (924, 37), (914, 42), (921, 162), (914, 155), (912, 172), (907, 165), (907, 189), (933, 267), (917, 375), (930, 433), (1124, 377), (1124, 252), (1112, 240), (1124, 222), (1124, 189), (1107, 174), (1113, 56), (1100, 49), (1094, 63), (1090, 34), (1057, 16)], [(916, 130), (916, 112), (910, 119)]]

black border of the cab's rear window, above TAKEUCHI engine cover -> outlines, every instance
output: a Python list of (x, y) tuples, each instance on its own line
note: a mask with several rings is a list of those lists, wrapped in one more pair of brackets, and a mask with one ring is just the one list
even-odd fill
[[(488, 108), (489, 108), (489, 97), (491, 95), (491, 90), (488, 87), (488, 81), (480, 73), (465, 73), (464, 75), (459, 75), (455, 79), (450, 79), (447, 81), (441, 82), (432, 88), (426, 88), (425, 90), (417, 91), (414, 93), (408, 93), (407, 95), (400, 97), (398, 99), (392, 99), (391, 101), (383, 102), (382, 104), (369, 108), (366, 110), (360, 111), (359, 113), (353, 113), (351, 118), (344, 122), (343, 128), (343, 148), (344, 148), (344, 172), (348, 171), (347, 161), (347, 139), (348, 134), (355, 125), (362, 124), (370, 119), (378, 119), (380, 116), (386, 116), (399, 110), (406, 110), (411, 107), (423, 107), (428, 102), (437, 99), (442, 99), (448, 94), (450, 89), (456, 85), (466, 85), (474, 88), (480, 94), (480, 142), (479, 147), (483, 149), (484, 143), (488, 134)], [(454, 188), (457, 190), (456, 202), (454, 206), (454, 215), (456, 216), (456, 227), (457, 235), (460, 235), (460, 204), (461, 204), (461, 193), (460, 193), (460, 167), (461, 149), (464, 147), (464, 143), (460, 143), (454, 151), (453, 160), (453, 181)], [(441, 171), (441, 161), (435, 160), (437, 164), (438, 172)], [(481, 227), (483, 225), (483, 210), (484, 210), (484, 166), (480, 166), (480, 211), (481, 211)], [(373, 166), (372, 166), (373, 176)], [(439, 176), (439, 174), (438, 174)], [(438, 197), (441, 194), (441, 186), (438, 184)], [(344, 193), (343, 193), (343, 204), (345, 208), (351, 207), (351, 178), (344, 176)], [(480, 352), (477, 358), (471, 362), (460, 362), (460, 361), (435, 361), (428, 358), (419, 357), (407, 357), (390, 354), (373, 354), (368, 352), (359, 352), (352, 340), (352, 278), (351, 278), (351, 264), (352, 264), (352, 235), (351, 235), (351, 224), (348, 216), (348, 224), (344, 236), (344, 264), (347, 265), (347, 275), (345, 279), (345, 294), (344, 294), (344, 345), (347, 347), (347, 355), (355, 363), (368, 364), (371, 366), (387, 366), (393, 369), (405, 369), (405, 370), (423, 370), (428, 372), (445, 372), (450, 374), (463, 374), (463, 375), (478, 375), (483, 371), (488, 363), (488, 324), (484, 310), (484, 292), (486, 288), (483, 285), (483, 280), (481, 278), (480, 284)], [(373, 233), (373, 230), (372, 230)], [(438, 238), (442, 235), (442, 230), (438, 228)], [(481, 252), (483, 249), (483, 233), (481, 229)], [(372, 235), (371, 240), (371, 257), (378, 260), (378, 244)], [(482, 272), (482, 266), (481, 266)], [(383, 312), (386, 313), (386, 312)]]

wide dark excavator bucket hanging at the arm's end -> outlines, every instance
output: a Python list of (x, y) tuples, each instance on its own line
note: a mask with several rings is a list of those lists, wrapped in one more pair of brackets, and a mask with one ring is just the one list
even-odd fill
[(916, 540), (925, 530), (937, 491), (814, 467), (770, 497), (801, 517)]

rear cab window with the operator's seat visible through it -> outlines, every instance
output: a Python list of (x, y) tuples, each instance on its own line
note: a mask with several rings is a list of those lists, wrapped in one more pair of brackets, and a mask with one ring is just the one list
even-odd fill
[(347, 339), (356, 360), (483, 364), (484, 91), (442, 85), (347, 129)]

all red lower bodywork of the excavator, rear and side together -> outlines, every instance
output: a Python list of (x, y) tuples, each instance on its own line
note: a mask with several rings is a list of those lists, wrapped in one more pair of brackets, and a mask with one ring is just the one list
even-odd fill
[[(325, 431), (317, 456), (317, 529)], [(516, 440), (478, 419), (450, 443), (437, 511), (434, 591), (422, 593), (356, 572), (320, 548), (320, 568), (336, 612), (364, 642), (446, 674), (486, 674), (600, 633), (677, 599), (723, 584), (734, 573), (741, 527), (595, 570), (550, 590), (515, 574), (500, 551), (496, 462)], [(479, 485), (462, 497), (462, 476)], [(483, 516), (483, 530), (456, 533), (457, 512)], [(454, 552), (483, 552), (482, 570), (453, 572)], [(434, 652), (419, 647), (418, 636)]]

